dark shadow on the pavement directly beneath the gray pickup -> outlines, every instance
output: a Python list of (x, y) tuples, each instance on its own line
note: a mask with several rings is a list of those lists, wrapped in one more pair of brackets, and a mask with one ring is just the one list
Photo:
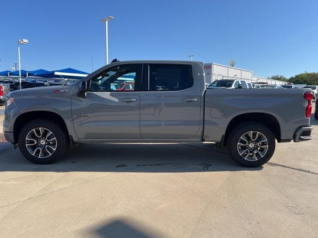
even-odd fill
[(7, 149), (1, 152), (0, 163), (0, 171), (29, 172), (185, 173), (262, 169), (239, 166), (213, 143), (80, 144), (52, 165), (32, 164), (18, 149)]

